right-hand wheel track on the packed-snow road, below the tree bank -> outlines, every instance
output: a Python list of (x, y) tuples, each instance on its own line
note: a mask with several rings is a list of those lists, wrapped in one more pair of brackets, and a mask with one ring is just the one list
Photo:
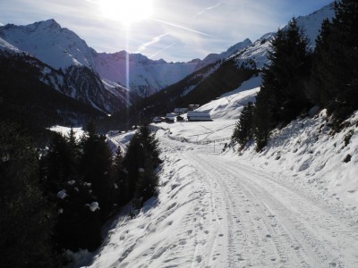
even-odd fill
[[(358, 248), (357, 240), (354, 239), (357, 234), (356, 228), (350, 228), (349, 223), (341, 222), (341, 219), (336, 217), (337, 210), (333, 210), (333, 214), (329, 213), (332, 209), (327, 210), (327, 205), (317, 203), (316, 198), (310, 199), (306, 195), (300, 195), (301, 193), (297, 194), (293, 188), (285, 188), (271, 179), (268, 180), (267, 173), (257, 172), (252, 168), (249, 170), (247, 167), (240, 172), (238, 163), (235, 167), (234, 162), (227, 163), (227, 159), (223, 162), (217, 156), (205, 155), (205, 160), (208, 163), (206, 169), (216, 168), (221, 172), (221, 178), (226, 179), (222, 184), (226, 185), (228, 190), (233, 192), (235, 185), (241, 185), (247, 200), (258, 203), (254, 206), (256, 214), (265, 215), (264, 227), (268, 230), (269, 239), (273, 240), (284, 267), (356, 267), (358, 265), (357, 254), (350, 250), (352, 247)], [(285, 197), (279, 197), (281, 195)], [(236, 198), (236, 201), (239, 200)], [(289, 202), (288, 205), (285, 205), (285, 202)], [(322, 206), (325, 209), (322, 209)], [(277, 228), (271, 228), (272, 225), (268, 224), (269, 214), (276, 215), (272, 219), (276, 219)], [(342, 227), (345, 228), (342, 230)], [(339, 233), (337, 237), (341, 239), (334, 239), (331, 235), (332, 231)], [(251, 236), (251, 239), (256, 238)], [(345, 254), (346, 252), (343, 251), (349, 253)], [(288, 255), (289, 263), (286, 263), (285, 255)], [(293, 262), (294, 259), (296, 261)], [(270, 266), (275, 267), (273, 264)]]

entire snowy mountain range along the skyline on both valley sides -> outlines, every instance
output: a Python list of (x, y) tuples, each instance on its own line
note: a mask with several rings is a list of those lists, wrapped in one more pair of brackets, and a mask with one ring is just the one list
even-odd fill
[[(312, 47), (321, 22), (333, 16), (330, 4), (297, 18), (298, 25), (311, 39)], [(258, 75), (268, 63), (269, 41), (274, 36), (272, 32), (254, 42), (245, 39), (221, 54), (209, 54), (203, 60), (166, 63), (125, 51), (98, 53), (72, 30), (62, 28), (55, 20), (48, 20), (27, 26), (1, 26), (0, 61), (8, 63), (16, 59), (17, 68), (31, 65), (31, 75), (38, 83), (101, 113), (123, 111), (143, 98), (142, 108), (149, 111), (153, 105), (167, 109), (170, 105), (191, 102), (203, 104), (238, 88), (244, 80)], [(128, 72), (126, 61), (129, 61)], [(126, 73), (129, 73), (128, 78)], [(11, 85), (12, 81), (6, 84)], [(4, 100), (4, 96), (1, 97)]]

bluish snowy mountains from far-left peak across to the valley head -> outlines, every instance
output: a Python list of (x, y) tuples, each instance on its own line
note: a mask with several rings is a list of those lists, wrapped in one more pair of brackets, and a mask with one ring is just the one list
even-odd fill
[[(62, 28), (55, 20), (39, 21), (27, 26), (7, 24), (0, 27), (0, 38), (55, 70), (66, 70), (71, 66), (87, 67), (97, 72), (102, 80), (111, 81), (109, 84), (115, 88), (129, 85), (128, 89), (140, 96), (149, 96), (182, 80), (198, 64), (198, 61), (152, 61), (142, 54), (127, 54), (125, 51), (114, 54), (97, 53), (72, 30)], [(128, 81), (127, 59), (130, 67)], [(106, 88), (110, 88), (108, 83)]]

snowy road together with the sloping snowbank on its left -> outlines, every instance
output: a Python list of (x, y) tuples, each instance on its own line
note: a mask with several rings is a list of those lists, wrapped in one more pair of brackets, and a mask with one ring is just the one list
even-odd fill
[(160, 138), (159, 203), (118, 222), (93, 267), (358, 267), (358, 224), (292, 178)]

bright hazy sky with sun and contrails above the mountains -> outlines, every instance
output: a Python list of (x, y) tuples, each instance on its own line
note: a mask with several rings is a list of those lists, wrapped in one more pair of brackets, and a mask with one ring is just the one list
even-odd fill
[[(98, 52), (188, 62), (255, 41), (332, 0), (0, 0), (0, 23), (55, 19)], [(0, 24), (0, 25), (1, 25)]]

